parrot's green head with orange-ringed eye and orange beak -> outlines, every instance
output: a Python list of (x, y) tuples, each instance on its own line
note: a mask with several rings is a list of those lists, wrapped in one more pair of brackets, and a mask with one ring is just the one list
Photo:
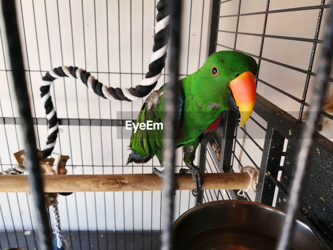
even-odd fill
[[(257, 70), (257, 63), (252, 57), (236, 51), (219, 51), (210, 55), (198, 70), (196, 78), (201, 80), (196, 82), (201, 82), (203, 99), (239, 111), (239, 126), (243, 126), (254, 107), (254, 76)], [(202, 83), (205, 84), (205, 91), (202, 91)]]

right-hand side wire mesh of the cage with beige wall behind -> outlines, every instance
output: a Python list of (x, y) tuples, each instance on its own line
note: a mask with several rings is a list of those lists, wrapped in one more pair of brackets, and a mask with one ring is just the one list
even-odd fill
[[(323, 42), (320, 27), (325, 26), (330, 1), (221, 1), (220, 4), (216, 51), (229, 49), (254, 57), (259, 66), (257, 93), (293, 117), (306, 121), (309, 106), (306, 101), (311, 96), (320, 54), (317, 51)], [(319, 133), (332, 141), (332, 75), (329, 81)], [(267, 121), (256, 112), (246, 126), (236, 127), (231, 157), (233, 171), (246, 165), (259, 169), (266, 128)], [(284, 153), (287, 143), (285, 138)], [(279, 165), (283, 162), (284, 154)], [(281, 171), (277, 176), (280, 178)], [(250, 200), (255, 197), (246, 196)], [(276, 187), (270, 205), (275, 206), (277, 198)]]

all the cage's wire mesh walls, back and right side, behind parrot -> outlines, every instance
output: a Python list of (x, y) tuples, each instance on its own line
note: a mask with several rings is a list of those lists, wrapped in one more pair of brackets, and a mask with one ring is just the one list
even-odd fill
[[(47, 138), (45, 110), (39, 96), (41, 77), (51, 68), (75, 65), (108, 86), (137, 85), (150, 63), (156, 4), (156, 0), (16, 0), (39, 148)], [(211, 8), (218, 8), (216, 51), (236, 50), (254, 57), (259, 66), (257, 93), (295, 120), (304, 121), (315, 78), (317, 51), (324, 39), (320, 27), (325, 25), (329, 4), (327, 0), (182, 1), (179, 79), (196, 71), (207, 57), (209, 44), (215, 43), (209, 30), (213, 25)], [(15, 165), (13, 153), (22, 149), (23, 141), (21, 130), (17, 129), (19, 115), (3, 20), (0, 29), (0, 165), (5, 170)], [(155, 89), (168, 81), (168, 64), (167, 58)], [(331, 141), (332, 81), (331, 76), (320, 124), (320, 133)], [(59, 126), (54, 156), (59, 153), (71, 157), (67, 162), (68, 174), (151, 173), (152, 167), (159, 167), (155, 157), (145, 164), (123, 167), (129, 137), (120, 132), (119, 121), (136, 119), (143, 100), (130, 103), (105, 100), (72, 78), (55, 81), (51, 93), (58, 117), (66, 124)], [(225, 131), (216, 131), (207, 145), (205, 172), (238, 172), (239, 167), (247, 165), (260, 169), (266, 131), (270, 128), (260, 112), (254, 111), (246, 127), (231, 129), (231, 147), (222, 147)], [(228, 117), (236, 125), (236, 117), (225, 114), (224, 119)], [(282, 151), (286, 152), (288, 138), (280, 140)], [(229, 158), (223, 151), (227, 149)], [(288, 163), (284, 158), (282, 154), (278, 165)], [(199, 164), (198, 156), (195, 164)], [(176, 166), (176, 170), (183, 167), (180, 149)], [(276, 174), (275, 179), (280, 180), (281, 171)], [(203, 202), (247, 199), (265, 203), (255, 193), (244, 193), (242, 197), (237, 191), (204, 190)], [(284, 208), (278, 187), (270, 195), (270, 205)], [(0, 249), (16, 246), (38, 249), (29, 194), (0, 192), (0, 200)], [(187, 190), (176, 191), (174, 201), (174, 220), (195, 206), (195, 199)], [(160, 248), (162, 191), (73, 193), (59, 196), (58, 202), (70, 249)], [(53, 224), (51, 218), (50, 224)]]

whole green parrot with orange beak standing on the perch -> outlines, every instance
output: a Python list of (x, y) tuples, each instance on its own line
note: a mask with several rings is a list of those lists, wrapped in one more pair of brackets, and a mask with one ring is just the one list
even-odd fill
[[(208, 57), (200, 69), (178, 81), (178, 139), (177, 147), (183, 147), (183, 161), (188, 169), (181, 173), (191, 173), (194, 182), (192, 193), (198, 194), (201, 187), (199, 168), (193, 164), (195, 151), (200, 141), (208, 141), (216, 129), (221, 114), (229, 108), (240, 113), (242, 126), (250, 117), (256, 98), (254, 75), (257, 73), (256, 61), (236, 51), (219, 51)], [(140, 123), (164, 122), (164, 93), (167, 84), (152, 92), (144, 102), (133, 129), (130, 148), (132, 150), (127, 164), (148, 162), (156, 155), (161, 171), (153, 172), (164, 176), (162, 148), (163, 130), (140, 129)], [(148, 128), (148, 127), (147, 127)]]

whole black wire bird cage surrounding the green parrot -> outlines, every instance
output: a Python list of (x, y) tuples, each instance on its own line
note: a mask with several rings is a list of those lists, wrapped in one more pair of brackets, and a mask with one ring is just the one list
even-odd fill
[[(328, 0), (2, 1), (0, 249), (174, 249), (172, 223), (221, 200), (285, 211), (279, 250), (287, 249), (295, 219), (323, 249), (333, 249), (330, 6)], [(175, 112), (164, 124), (163, 181), (151, 175), (160, 167), (156, 157), (125, 167), (132, 133), (126, 121), (136, 120), (145, 96), (169, 83), (167, 111), (175, 111), (177, 80), (222, 50), (254, 58), (256, 101), (245, 126), (226, 110), (197, 148), (194, 164), (203, 176), (197, 196), (191, 178), (172, 174), (185, 167), (175, 147)], [(147, 79), (154, 85), (142, 84)], [(49, 97), (54, 111), (45, 114)], [(46, 141), (49, 158), (36, 151)], [(41, 174), (44, 163), (51, 168), (42, 172), (51, 175)]]

